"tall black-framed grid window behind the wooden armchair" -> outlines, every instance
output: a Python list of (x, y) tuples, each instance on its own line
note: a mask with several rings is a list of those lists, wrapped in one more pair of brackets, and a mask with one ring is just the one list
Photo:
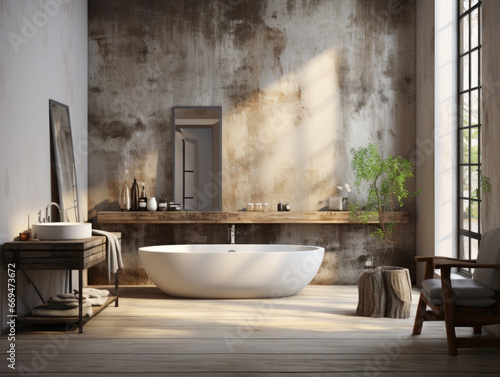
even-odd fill
[(458, 3), (458, 246), (459, 257), (476, 259), (481, 238), (481, 1)]

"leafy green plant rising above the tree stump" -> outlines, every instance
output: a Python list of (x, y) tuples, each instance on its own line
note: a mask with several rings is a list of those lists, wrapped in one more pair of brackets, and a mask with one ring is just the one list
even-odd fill
[(383, 159), (378, 147), (351, 148), (351, 168), (354, 173), (354, 187), (358, 194), (364, 183), (368, 184), (366, 204), (359, 202), (349, 205), (350, 217), (354, 221), (368, 222), (377, 219), (378, 224), (371, 233), (380, 242), (397, 244), (398, 223), (388, 212), (400, 209), (404, 199), (410, 195), (407, 180), (413, 177), (414, 164), (401, 157), (389, 156)]

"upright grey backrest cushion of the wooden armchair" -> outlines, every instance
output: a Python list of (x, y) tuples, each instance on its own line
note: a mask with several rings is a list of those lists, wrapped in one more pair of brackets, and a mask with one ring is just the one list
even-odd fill
[[(486, 232), (481, 237), (477, 263), (500, 264), (500, 229)], [(500, 291), (500, 269), (476, 268), (473, 279), (495, 291)]]

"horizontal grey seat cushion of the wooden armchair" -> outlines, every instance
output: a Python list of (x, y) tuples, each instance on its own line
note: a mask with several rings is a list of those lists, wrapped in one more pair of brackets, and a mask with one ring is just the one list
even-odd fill
[[(487, 308), (496, 303), (496, 293), (472, 279), (451, 281), (456, 306)], [(443, 305), (441, 279), (427, 279), (422, 282), (422, 292), (431, 304)]]

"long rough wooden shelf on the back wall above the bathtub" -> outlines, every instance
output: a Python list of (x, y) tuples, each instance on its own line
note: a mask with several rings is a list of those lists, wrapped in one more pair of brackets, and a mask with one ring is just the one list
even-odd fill
[[(386, 212), (387, 221), (407, 223), (408, 212)], [(352, 224), (348, 211), (223, 212), (223, 211), (103, 211), (101, 224)], [(378, 220), (370, 220), (376, 224)]]

